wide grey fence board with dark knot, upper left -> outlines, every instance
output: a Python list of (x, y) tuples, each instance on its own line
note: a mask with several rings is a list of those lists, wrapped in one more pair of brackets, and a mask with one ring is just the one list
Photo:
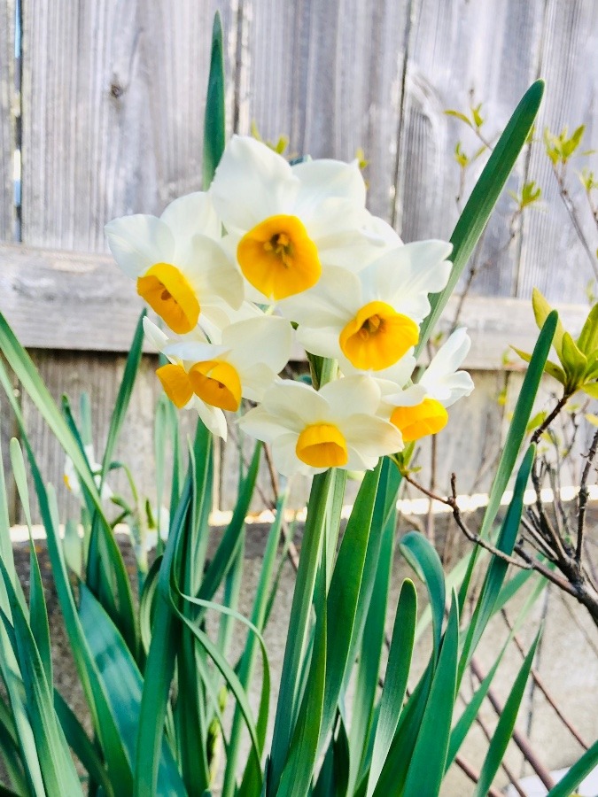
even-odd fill
[(103, 251), (106, 221), (201, 186), (216, 6), (24, 4), (24, 241)]

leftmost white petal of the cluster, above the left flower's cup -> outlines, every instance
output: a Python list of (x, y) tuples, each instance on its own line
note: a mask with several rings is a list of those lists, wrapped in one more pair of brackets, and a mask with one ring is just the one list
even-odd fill
[(169, 263), (173, 258), (175, 238), (156, 216), (123, 216), (109, 221), (104, 229), (113, 258), (128, 277), (136, 279), (155, 263)]

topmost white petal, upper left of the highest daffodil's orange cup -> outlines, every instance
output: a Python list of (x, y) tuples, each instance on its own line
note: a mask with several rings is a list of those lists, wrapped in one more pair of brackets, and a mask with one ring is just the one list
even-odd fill
[(254, 138), (233, 135), (210, 187), (225, 228), (247, 231), (278, 213), (291, 213), (299, 178), (281, 155)]

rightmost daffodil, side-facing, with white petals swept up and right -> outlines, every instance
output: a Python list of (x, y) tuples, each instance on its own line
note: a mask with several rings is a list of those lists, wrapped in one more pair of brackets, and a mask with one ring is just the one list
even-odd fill
[(417, 384), (397, 391), (397, 384), (380, 380), (380, 414), (400, 429), (405, 443), (435, 435), (447, 425), (447, 407), (473, 391), (467, 371), (460, 371), (470, 351), (466, 329), (457, 329), (443, 344)]

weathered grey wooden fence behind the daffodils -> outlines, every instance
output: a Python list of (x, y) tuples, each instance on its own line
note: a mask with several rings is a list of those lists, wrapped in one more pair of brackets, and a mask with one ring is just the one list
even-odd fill
[[(19, 30), (15, 0), (0, 0), (0, 309), (57, 398), (90, 392), (98, 446), (140, 308), (105, 254), (103, 228), (124, 213), (159, 213), (200, 186), (217, 7), (210, 0), (22, 0)], [(233, 0), (220, 11), (229, 130), (247, 133), (254, 120), (265, 138), (288, 135), (291, 152), (314, 157), (352, 159), (361, 148), (369, 207), (406, 241), (447, 237), (458, 216), (455, 143), (469, 152), (479, 144), (446, 109), (483, 103), (492, 138), (542, 76), (537, 137), (545, 126), (585, 124), (587, 147), (598, 145), (594, 0)], [(465, 195), (483, 161), (472, 167)], [(595, 242), (573, 166), (571, 202)], [(541, 208), (524, 213), (522, 234), (509, 244), (514, 205), (506, 192), (501, 197), (462, 313), (474, 333), (468, 364), (478, 399), (455, 413), (454, 429), (470, 416), (467, 445), (450, 432), (439, 445), (443, 470), (466, 472), (464, 488), (485, 448), (500, 445), (494, 372), (509, 342), (531, 344), (532, 286), (565, 305), (575, 328), (594, 277), (541, 143), (525, 151), (509, 188), (530, 180), (541, 186)], [(148, 354), (125, 429), (145, 489), (158, 392), (152, 368)], [(511, 395), (517, 383), (518, 375), (509, 376)], [(62, 456), (27, 396), (20, 400), (44, 475), (61, 483)], [(5, 451), (14, 429), (2, 406)], [(221, 452), (221, 507), (229, 506), (234, 459)]]

